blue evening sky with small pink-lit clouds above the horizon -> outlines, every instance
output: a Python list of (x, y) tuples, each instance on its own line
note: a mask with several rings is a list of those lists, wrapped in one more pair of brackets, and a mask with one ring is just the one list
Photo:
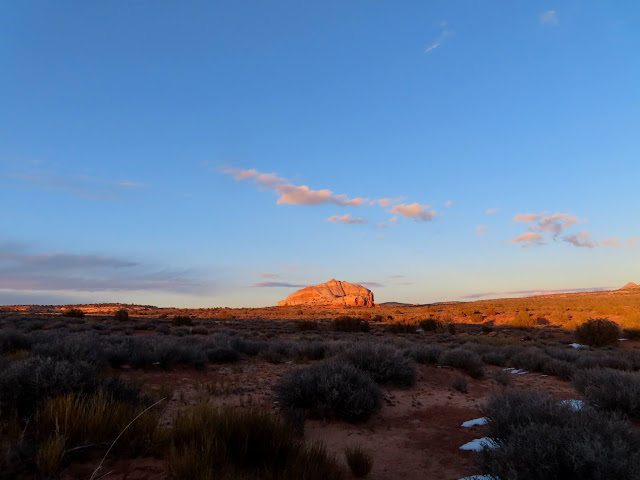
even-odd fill
[(640, 282), (640, 4), (0, 3), (0, 304)]

